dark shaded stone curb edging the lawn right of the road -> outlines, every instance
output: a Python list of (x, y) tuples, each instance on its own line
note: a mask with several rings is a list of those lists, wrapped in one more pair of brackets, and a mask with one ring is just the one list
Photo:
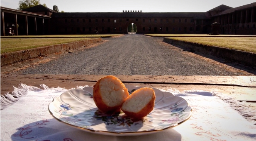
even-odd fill
[(173, 40), (169, 38), (163, 38), (163, 41), (168, 42), (169, 44), (172, 44), (172, 45), (180, 45), (183, 47), (187, 47), (188, 49), (191, 50), (191, 52), (198, 51), (202, 53), (211, 54), (213, 56), (222, 57), (225, 59), (239, 61), (249, 66), (256, 66), (256, 53), (244, 52), (244, 51), (228, 49), (224, 47), (202, 45), (198, 43)]

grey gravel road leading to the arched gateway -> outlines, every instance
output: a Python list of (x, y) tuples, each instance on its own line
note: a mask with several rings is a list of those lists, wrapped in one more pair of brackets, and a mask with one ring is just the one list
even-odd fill
[(128, 34), (65, 54), (23, 74), (88, 75), (253, 75), (152, 38)]

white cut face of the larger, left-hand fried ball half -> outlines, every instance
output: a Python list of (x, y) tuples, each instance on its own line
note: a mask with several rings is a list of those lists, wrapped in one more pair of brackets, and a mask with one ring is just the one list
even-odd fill
[(124, 99), (127, 98), (120, 82), (111, 78), (101, 80), (100, 93), (103, 102), (110, 107), (122, 104)]

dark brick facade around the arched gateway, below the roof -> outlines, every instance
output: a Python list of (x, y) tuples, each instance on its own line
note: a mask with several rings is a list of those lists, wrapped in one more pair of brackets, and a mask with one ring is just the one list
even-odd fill
[[(52, 18), (52, 34), (100, 34), (127, 33), (130, 23), (137, 26), (137, 33), (194, 34), (203, 33), (204, 26), (210, 26), (211, 19), (193, 18)], [(207, 21), (207, 22), (206, 22)], [(200, 28), (196, 31), (196, 26)], [(210, 33), (210, 31), (209, 31)]]

